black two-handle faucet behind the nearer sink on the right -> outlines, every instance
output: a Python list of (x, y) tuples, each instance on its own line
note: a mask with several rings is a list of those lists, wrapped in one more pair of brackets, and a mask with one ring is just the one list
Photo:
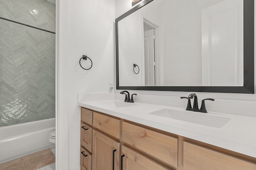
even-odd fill
[[(191, 93), (188, 97), (180, 97), (181, 99), (188, 99), (188, 104), (186, 107), (186, 110), (190, 110), (190, 111), (198, 111), (198, 112), (203, 112), (203, 113), (207, 113), (206, 107), (205, 107), (205, 100), (212, 100), (214, 101), (214, 99), (211, 98), (206, 98), (204, 100), (202, 100), (202, 105), (201, 108), (198, 109), (198, 102), (197, 102), (197, 96), (195, 93)], [(191, 103), (190, 103), (190, 99), (194, 98), (194, 104), (193, 104), (193, 108), (191, 107)]]

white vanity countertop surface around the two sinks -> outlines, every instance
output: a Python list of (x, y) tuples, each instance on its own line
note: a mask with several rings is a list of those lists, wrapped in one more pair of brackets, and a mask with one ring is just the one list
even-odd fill
[[(79, 94), (78, 105), (112, 116), (134, 121), (149, 127), (208, 143), (256, 158), (256, 117), (225, 113), (198, 113), (230, 117), (231, 121), (221, 128), (210, 127), (149, 114), (160, 109), (184, 110), (186, 108), (134, 102), (127, 107), (115, 107), (113, 94)], [(194, 112), (193, 112), (194, 113)]]

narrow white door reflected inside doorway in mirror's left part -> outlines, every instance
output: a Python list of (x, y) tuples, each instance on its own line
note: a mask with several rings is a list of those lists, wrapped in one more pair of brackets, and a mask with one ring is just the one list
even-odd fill
[(145, 86), (155, 86), (154, 29), (144, 32)]

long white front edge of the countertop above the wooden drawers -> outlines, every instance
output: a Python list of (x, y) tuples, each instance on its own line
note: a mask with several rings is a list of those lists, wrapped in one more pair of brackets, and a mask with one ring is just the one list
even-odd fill
[(189, 129), (183, 129), (183, 128), (180, 128), (180, 127), (175, 127), (175, 126), (172, 126), (172, 125), (166, 125), (166, 124), (159, 123), (159, 122), (156, 122), (156, 121), (143, 119), (143, 118), (140, 118), (140, 117), (135, 117), (133, 115), (119, 113), (119, 112), (112, 111), (112, 110), (109, 110), (109, 109), (104, 109), (104, 108), (101, 108), (101, 107), (92, 106), (90, 104), (86, 104), (86, 102), (78, 102), (78, 106), (86, 107), (88, 109), (92, 109), (92, 110), (95, 110), (95, 111), (106, 113), (106, 114), (109, 114), (109, 115), (112, 115), (112, 116), (115, 116), (115, 117), (120, 117), (122, 119), (126, 119), (126, 120), (129, 120), (129, 121), (140, 123), (142, 125), (153, 127), (153, 128), (156, 128), (156, 129), (159, 129), (159, 130), (162, 130), (162, 131), (166, 131), (166, 132), (169, 132), (169, 133), (173, 133), (173, 134), (176, 134), (176, 135), (180, 135), (180, 136), (183, 136), (183, 137), (194, 139), (196, 141), (200, 141), (200, 142), (203, 142), (203, 143), (208, 143), (210, 145), (214, 145), (214, 146), (224, 148), (224, 149), (227, 149), (227, 150), (232, 150), (234, 152), (238, 152), (238, 153), (245, 154), (245, 155), (252, 156), (252, 157), (256, 158), (256, 146), (247, 145), (247, 144), (244, 144), (244, 143), (224, 139), (224, 138), (221, 138), (221, 137), (211, 136), (211, 135), (207, 135), (207, 134), (204, 134), (204, 133), (191, 131)]

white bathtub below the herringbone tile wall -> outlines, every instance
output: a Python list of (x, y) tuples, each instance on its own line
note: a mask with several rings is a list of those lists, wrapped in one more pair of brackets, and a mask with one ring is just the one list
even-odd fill
[(48, 141), (55, 118), (0, 127), (0, 164), (55, 145)]

